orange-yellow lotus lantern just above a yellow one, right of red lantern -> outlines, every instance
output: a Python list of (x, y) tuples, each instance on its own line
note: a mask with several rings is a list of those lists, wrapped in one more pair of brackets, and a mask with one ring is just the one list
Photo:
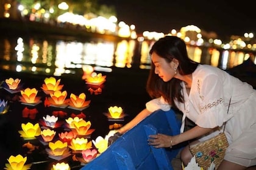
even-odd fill
[(91, 135), (92, 132), (94, 132), (95, 129), (90, 129), (91, 122), (80, 120), (80, 121), (74, 121), (74, 129), (72, 131), (76, 132), (77, 135), (85, 136), (85, 135)]

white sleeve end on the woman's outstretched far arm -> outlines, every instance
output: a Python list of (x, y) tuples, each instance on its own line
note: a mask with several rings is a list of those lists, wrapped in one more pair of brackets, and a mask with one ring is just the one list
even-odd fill
[(158, 109), (168, 111), (169, 109), (171, 109), (171, 105), (168, 104), (163, 97), (159, 97), (148, 101), (148, 103), (146, 103), (146, 109), (148, 109), (150, 112), (154, 112)]

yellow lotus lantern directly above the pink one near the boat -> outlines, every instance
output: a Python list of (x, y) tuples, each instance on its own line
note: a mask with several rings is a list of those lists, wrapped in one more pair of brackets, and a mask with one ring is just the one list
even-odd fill
[(79, 138), (79, 137), (73, 138), (70, 144), (71, 145), (68, 147), (74, 151), (83, 151), (85, 149), (90, 149), (93, 146), (91, 141), (88, 142), (87, 138)]

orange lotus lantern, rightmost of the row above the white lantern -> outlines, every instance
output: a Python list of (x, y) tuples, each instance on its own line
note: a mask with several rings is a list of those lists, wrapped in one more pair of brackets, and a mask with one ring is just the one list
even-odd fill
[(85, 108), (88, 107), (90, 104), (90, 100), (85, 101), (86, 95), (84, 93), (80, 94), (79, 96), (71, 94), (69, 100), (69, 106), (76, 107), (76, 108)]

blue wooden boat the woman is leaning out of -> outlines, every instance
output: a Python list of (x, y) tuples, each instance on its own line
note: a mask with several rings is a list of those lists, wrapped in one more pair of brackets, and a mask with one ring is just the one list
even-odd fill
[(169, 169), (171, 160), (180, 148), (154, 148), (148, 144), (152, 134), (177, 135), (180, 133), (180, 120), (174, 110), (157, 110), (141, 121), (130, 131), (121, 135), (99, 157), (94, 158), (81, 170), (93, 169)]

